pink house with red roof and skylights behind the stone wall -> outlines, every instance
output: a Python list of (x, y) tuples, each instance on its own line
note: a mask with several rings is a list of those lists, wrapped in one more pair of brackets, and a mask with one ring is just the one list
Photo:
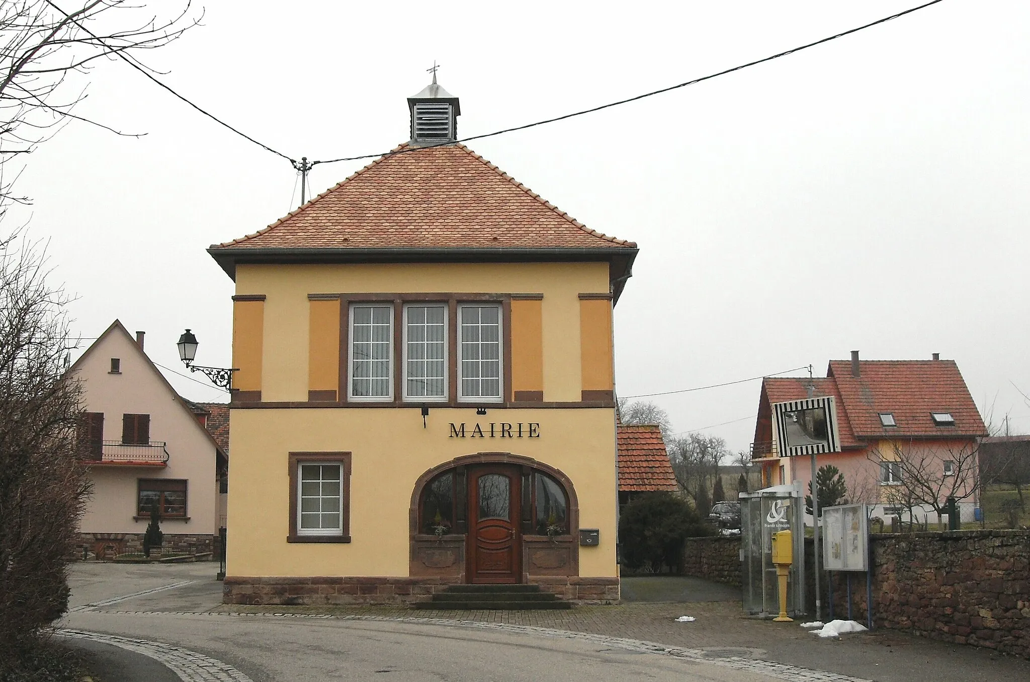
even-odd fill
[(767, 377), (762, 380), (752, 457), (763, 486), (812, 478), (808, 456), (781, 455), (774, 403), (832, 396), (842, 452), (821, 454), (845, 476), (850, 502), (876, 505), (873, 514), (936, 521), (933, 506), (961, 498), (962, 518), (977, 505), (978, 439), (987, 428), (958, 365), (939, 360), (830, 361), (825, 377)]

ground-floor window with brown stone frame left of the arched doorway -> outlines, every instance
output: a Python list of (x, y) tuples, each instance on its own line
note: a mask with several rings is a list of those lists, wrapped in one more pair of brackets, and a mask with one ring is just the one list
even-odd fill
[(289, 542), (350, 542), (350, 453), (289, 454)]

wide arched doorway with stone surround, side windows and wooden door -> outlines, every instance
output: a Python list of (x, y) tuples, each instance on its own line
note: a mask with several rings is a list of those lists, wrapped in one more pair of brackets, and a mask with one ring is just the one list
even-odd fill
[(579, 505), (563, 473), (507, 452), (457, 457), (412, 491), (411, 575), (467, 583), (573, 576)]

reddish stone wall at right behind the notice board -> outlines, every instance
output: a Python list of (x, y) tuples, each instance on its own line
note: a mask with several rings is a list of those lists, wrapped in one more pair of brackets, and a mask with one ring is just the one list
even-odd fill
[[(1030, 532), (956, 531), (872, 536), (872, 618), (912, 632), (1030, 658)], [(852, 616), (866, 618), (865, 580), (852, 585)], [(834, 575), (834, 615), (847, 614)]]

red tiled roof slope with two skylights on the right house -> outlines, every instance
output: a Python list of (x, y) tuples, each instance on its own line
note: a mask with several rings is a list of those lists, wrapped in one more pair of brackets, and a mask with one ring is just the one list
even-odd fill
[[(851, 361), (830, 361), (826, 370), (848, 409), (859, 437), (985, 436), (987, 428), (952, 360), (861, 361), (859, 376)], [(894, 414), (896, 428), (880, 422), (881, 412)], [(931, 412), (951, 412), (954, 427), (938, 427)]]

